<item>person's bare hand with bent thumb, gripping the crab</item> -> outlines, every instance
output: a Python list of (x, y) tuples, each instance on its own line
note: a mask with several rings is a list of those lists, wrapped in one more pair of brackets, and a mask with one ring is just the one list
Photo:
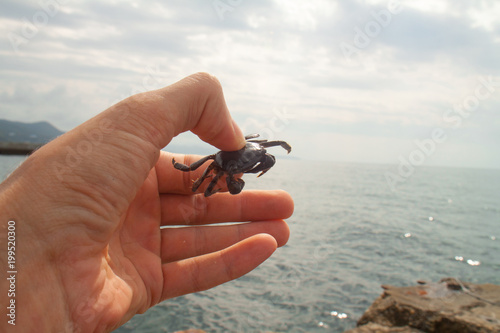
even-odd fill
[[(110, 107), (0, 184), (0, 268), (15, 221), (18, 272), (16, 326), (4, 316), (0, 331), (109, 332), (165, 299), (250, 272), (287, 242), (286, 192), (205, 198), (208, 181), (191, 192), (204, 168), (180, 172), (160, 152), (184, 131), (221, 150), (245, 144), (220, 83), (198, 73)], [(248, 223), (207, 226), (220, 222)], [(189, 227), (160, 228), (171, 225)], [(6, 309), (5, 278), (0, 288)]]

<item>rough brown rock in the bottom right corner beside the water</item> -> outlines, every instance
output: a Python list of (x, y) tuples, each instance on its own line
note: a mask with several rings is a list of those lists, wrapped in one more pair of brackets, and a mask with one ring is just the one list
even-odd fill
[(382, 295), (348, 332), (500, 332), (500, 286), (454, 278), (419, 283), (382, 286)]

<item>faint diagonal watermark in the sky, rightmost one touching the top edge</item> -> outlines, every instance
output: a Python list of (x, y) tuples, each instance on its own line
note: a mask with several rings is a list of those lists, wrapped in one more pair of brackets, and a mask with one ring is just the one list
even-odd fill
[(354, 37), (351, 43), (342, 42), (340, 50), (347, 63), (362, 63), (361, 51), (366, 49), (391, 23), (395, 15), (403, 11), (401, 0), (389, 0), (387, 7), (379, 11), (371, 11), (372, 20), (366, 22), (362, 28), (354, 27)]

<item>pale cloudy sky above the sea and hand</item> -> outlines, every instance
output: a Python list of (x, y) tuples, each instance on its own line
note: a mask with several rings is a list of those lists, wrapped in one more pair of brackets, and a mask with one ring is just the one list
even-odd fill
[(0, 118), (68, 131), (203, 71), (245, 133), (302, 160), (500, 168), (499, 17), (495, 0), (2, 0)]

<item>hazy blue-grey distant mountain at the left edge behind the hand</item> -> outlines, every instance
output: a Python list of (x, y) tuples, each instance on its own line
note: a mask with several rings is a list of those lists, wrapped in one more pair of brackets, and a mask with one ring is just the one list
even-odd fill
[(50, 123), (22, 123), (0, 119), (0, 142), (46, 143), (64, 132)]

